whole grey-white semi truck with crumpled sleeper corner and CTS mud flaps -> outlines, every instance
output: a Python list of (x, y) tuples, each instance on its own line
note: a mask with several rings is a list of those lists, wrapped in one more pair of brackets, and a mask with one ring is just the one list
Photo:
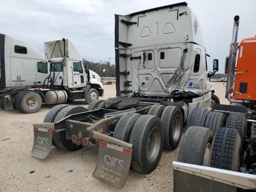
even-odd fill
[[(188, 115), (211, 110), (202, 30), (186, 2), (115, 15), (116, 98), (87, 108), (57, 105), (34, 123), (32, 155), (46, 158), (51, 146), (75, 151), (98, 147), (93, 177), (116, 188), (130, 167), (149, 174), (162, 150), (175, 150)], [(43, 165), (43, 162), (42, 162)]]

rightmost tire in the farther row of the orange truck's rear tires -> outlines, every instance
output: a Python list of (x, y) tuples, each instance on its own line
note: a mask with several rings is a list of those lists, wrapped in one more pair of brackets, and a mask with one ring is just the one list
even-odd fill
[(230, 112), (228, 115), (226, 128), (237, 129), (241, 140), (244, 138), (244, 133), (247, 127), (245, 114), (240, 112)]

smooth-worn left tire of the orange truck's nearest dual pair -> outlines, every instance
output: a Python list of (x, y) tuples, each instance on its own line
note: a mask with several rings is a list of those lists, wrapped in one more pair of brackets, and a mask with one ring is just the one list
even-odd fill
[[(212, 139), (212, 131), (208, 128), (198, 126), (188, 128), (180, 144), (178, 162), (203, 165), (206, 147), (212, 144)], [(205, 166), (208, 166), (208, 163)]]

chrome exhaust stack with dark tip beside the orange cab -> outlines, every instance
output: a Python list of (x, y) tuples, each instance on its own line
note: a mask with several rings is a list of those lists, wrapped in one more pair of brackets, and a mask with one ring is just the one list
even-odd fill
[(236, 52), (237, 52), (237, 35), (238, 35), (238, 26), (239, 26), (239, 16), (234, 17), (234, 28), (232, 35), (232, 42), (230, 44), (229, 52), (229, 62), (228, 62), (228, 76), (227, 76), (227, 86), (226, 86), (226, 95), (227, 99), (232, 98), (234, 91), (234, 78), (235, 78), (235, 68), (236, 68)]

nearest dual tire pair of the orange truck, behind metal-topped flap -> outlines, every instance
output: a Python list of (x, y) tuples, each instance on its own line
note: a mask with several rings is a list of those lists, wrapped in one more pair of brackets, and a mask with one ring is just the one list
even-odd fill
[(210, 129), (191, 126), (180, 145), (178, 162), (236, 171), (240, 149), (241, 139), (236, 129), (218, 128), (212, 139)]

